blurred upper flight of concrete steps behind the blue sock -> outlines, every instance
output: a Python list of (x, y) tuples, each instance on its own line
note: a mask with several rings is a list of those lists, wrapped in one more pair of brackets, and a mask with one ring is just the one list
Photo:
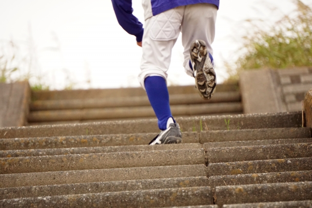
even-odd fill
[[(169, 87), (174, 116), (241, 114), (237, 85), (218, 85), (211, 100), (194, 86)], [(209, 105), (207, 105), (209, 103)], [(142, 88), (32, 92), (28, 125), (155, 118)]]

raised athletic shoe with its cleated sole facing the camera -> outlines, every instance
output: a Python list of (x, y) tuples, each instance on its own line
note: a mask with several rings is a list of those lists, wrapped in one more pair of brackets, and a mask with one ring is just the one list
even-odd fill
[(203, 99), (210, 99), (215, 93), (216, 77), (205, 41), (195, 40), (192, 42), (190, 55), (195, 86)]

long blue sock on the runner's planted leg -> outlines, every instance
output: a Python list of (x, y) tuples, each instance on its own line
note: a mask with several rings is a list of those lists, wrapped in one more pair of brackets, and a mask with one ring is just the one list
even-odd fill
[(158, 119), (160, 130), (167, 129), (168, 118), (172, 117), (166, 80), (162, 76), (148, 76), (144, 80), (145, 90)]

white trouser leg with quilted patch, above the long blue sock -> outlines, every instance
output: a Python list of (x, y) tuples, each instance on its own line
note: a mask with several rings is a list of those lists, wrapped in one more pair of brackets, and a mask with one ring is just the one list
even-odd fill
[(167, 10), (145, 20), (142, 40), (142, 60), (139, 82), (144, 88), (148, 76), (162, 76), (167, 79), (172, 48), (180, 33), (185, 7)]

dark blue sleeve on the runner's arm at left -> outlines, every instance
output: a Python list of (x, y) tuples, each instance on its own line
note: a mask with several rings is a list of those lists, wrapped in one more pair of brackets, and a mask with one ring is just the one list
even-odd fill
[(113, 8), (120, 26), (129, 34), (137, 37), (137, 42), (143, 38), (143, 25), (132, 14), (132, 0), (112, 0)]

